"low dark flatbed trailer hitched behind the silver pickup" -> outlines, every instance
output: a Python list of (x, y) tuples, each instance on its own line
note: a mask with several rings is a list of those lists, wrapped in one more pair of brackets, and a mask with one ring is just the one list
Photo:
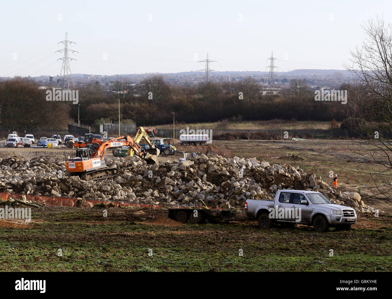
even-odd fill
[(167, 217), (182, 223), (186, 223), (189, 220), (192, 224), (204, 223), (206, 220), (216, 223), (219, 221), (243, 221), (249, 219), (241, 210), (207, 209), (205, 207), (169, 208)]

